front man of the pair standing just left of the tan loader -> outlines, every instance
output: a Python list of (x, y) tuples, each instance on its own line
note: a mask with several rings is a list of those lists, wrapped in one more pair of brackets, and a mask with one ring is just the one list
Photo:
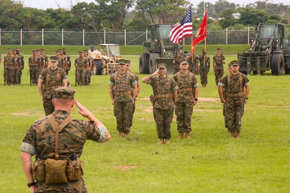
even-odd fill
[(88, 59), (83, 56), (83, 52), (79, 52), (79, 56), (75, 58), (75, 71), (77, 73), (78, 86), (85, 86), (85, 76), (88, 65)]

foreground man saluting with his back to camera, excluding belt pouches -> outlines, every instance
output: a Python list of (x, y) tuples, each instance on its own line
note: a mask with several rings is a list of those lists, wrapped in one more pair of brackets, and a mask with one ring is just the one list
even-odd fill
[[(72, 117), (70, 121), (59, 133), (58, 155), (59, 159), (69, 159), (69, 156), (76, 155), (81, 157), (86, 140), (93, 140), (97, 143), (103, 143), (110, 139), (108, 130), (92, 113), (84, 106), (79, 104), (77, 100), (73, 100), (74, 89), (60, 87), (54, 89), (55, 104), (58, 105), (59, 99), (65, 100), (68, 105), (68, 111), (54, 111), (53, 118), (57, 124), (61, 124), (70, 116), (71, 105), (75, 103), (80, 109), (81, 115), (87, 117), (89, 121), (77, 120)], [(71, 102), (71, 103), (70, 103)], [(69, 106), (70, 105), (70, 106)], [(32, 156), (40, 155), (40, 158), (46, 160), (48, 158), (55, 159), (56, 133), (52, 129), (52, 124), (48, 117), (43, 117), (33, 122), (20, 147), (22, 151), (21, 161), (23, 163), (24, 172), (30, 183), (30, 191), (34, 192), (87, 192), (84, 179), (68, 180), (67, 183), (49, 183), (45, 181), (34, 181), (30, 168), (32, 166)]]

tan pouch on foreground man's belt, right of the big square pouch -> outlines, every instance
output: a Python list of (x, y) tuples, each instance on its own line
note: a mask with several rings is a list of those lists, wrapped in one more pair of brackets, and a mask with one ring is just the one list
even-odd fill
[(77, 158), (77, 160), (68, 160), (66, 164), (66, 177), (68, 180), (79, 180), (84, 175), (83, 164), (81, 160)]

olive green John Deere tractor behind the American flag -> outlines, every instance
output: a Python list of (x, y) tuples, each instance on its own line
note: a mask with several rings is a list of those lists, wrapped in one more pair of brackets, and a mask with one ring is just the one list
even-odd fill
[(150, 24), (151, 36), (146, 42), (143, 42), (142, 53), (139, 58), (139, 71), (141, 74), (152, 74), (157, 70), (158, 63), (167, 64), (167, 73), (173, 74), (174, 56), (177, 49), (181, 48), (182, 56), (187, 52), (183, 52), (183, 47), (179, 44), (172, 43), (169, 39), (171, 28), (174, 24)]

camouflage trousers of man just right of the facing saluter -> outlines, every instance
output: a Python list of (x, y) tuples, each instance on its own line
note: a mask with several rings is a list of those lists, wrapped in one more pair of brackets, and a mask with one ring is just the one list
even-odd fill
[(175, 107), (177, 131), (191, 132), (192, 112), (193, 112), (193, 102), (177, 102)]

